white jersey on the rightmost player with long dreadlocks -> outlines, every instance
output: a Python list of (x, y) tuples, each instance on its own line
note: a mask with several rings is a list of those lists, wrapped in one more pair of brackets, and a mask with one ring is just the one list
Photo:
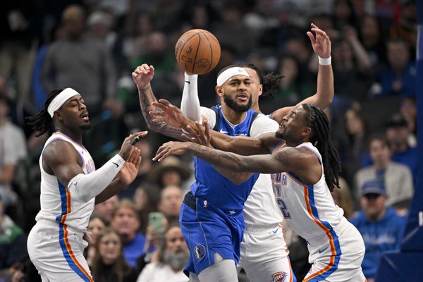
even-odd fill
[[(276, 147), (274, 152), (283, 145)], [(297, 148), (305, 147), (314, 152), (321, 162), (321, 155), (316, 147), (305, 142)], [(305, 240), (324, 235), (343, 219), (343, 209), (334, 202), (326, 185), (323, 165), (319, 181), (314, 185), (302, 183), (288, 172), (272, 173), (274, 194), (286, 219), (293, 231)]]

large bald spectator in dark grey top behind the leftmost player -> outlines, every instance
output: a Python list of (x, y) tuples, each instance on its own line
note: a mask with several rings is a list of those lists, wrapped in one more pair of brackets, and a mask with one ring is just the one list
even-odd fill
[(85, 93), (85, 103), (94, 116), (102, 110), (106, 98), (104, 103), (117, 105), (111, 102), (116, 91), (114, 64), (105, 44), (85, 35), (85, 11), (81, 6), (66, 7), (62, 19), (66, 36), (48, 47), (42, 84), (46, 90), (73, 87)]

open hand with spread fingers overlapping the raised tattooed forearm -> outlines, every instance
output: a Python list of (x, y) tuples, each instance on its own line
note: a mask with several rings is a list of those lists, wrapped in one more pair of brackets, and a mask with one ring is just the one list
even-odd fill
[(181, 128), (186, 117), (177, 106), (173, 106), (171, 102), (166, 99), (159, 99), (159, 102), (153, 102), (153, 106), (161, 109), (161, 111), (149, 111), (149, 115), (154, 116), (154, 123), (167, 123), (176, 128)]

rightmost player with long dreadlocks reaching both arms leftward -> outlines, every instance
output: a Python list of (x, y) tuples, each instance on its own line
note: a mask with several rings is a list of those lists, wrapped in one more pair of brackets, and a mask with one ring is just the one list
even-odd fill
[[(209, 145), (208, 127), (199, 135), (190, 129), (188, 126), (197, 142)], [(232, 143), (228, 149), (242, 148), (245, 154), (259, 155), (240, 156), (190, 142), (168, 142), (159, 148), (154, 160), (192, 152), (221, 169), (272, 173), (274, 193), (284, 218), (295, 233), (307, 240), (312, 268), (304, 281), (365, 281), (361, 269), (364, 242), (330, 193), (339, 185), (341, 163), (323, 111), (303, 104), (283, 118), (274, 136), (225, 138), (224, 142)]]

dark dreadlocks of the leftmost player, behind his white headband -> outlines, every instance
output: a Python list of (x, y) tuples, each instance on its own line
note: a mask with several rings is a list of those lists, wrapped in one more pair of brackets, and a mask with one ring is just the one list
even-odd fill
[(35, 116), (25, 118), (27, 124), (30, 125), (33, 130), (38, 131), (37, 135), (35, 135), (36, 137), (47, 133), (49, 130), (54, 130), (53, 118), (51, 118), (47, 109), (49, 108), (51, 101), (53, 101), (53, 99), (62, 91), (63, 89), (52, 90), (49, 95), (47, 95), (46, 102), (44, 102), (44, 108), (42, 108), (42, 110)]

